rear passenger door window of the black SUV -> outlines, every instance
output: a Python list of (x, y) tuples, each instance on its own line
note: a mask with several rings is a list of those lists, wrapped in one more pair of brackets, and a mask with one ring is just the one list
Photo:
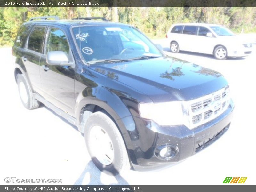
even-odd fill
[(28, 38), (28, 49), (41, 53), (41, 47), (44, 39), (44, 26), (36, 26), (33, 28)]

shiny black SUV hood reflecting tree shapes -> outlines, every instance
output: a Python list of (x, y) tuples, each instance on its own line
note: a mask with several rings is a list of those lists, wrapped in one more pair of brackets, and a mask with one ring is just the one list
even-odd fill
[(228, 84), (216, 71), (169, 57), (94, 64), (89, 68), (143, 92), (153, 102), (191, 100)]

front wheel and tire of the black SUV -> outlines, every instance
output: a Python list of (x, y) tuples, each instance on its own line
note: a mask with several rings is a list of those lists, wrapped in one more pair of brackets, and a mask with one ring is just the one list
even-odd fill
[(92, 162), (100, 171), (117, 175), (129, 168), (124, 140), (116, 124), (104, 111), (95, 112), (88, 117), (84, 139)]

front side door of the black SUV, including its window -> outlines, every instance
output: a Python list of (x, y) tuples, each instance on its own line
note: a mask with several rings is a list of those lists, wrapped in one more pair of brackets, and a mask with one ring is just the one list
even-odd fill
[(69, 60), (74, 61), (64, 30), (49, 27), (44, 44), (44, 54), (40, 59), (41, 83), (46, 100), (70, 116), (75, 116), (75, 68), (70, 66), (49, 65), (46, 62), (50, 51), (63, 51)]

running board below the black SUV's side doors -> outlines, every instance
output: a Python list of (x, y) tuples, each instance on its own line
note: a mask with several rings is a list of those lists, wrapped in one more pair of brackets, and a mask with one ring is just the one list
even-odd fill
[(69, 123), (77, 126), (76, 124), (76, 118), (72, 117), (70, 115), (68, 115), (67, 113), (65, 113), (64, 111), (62, 111), (60, 108), (57, 108), (56, 106), (54, 106), (52, 103), (50, 103), (49, 101), (45, 100), (42, 96), (33, 93), (34, 98), (38, 101), (40, 101), (41, 103), (43, 103), (46, 107), (52, 109), (56, 114), (58, 114), (59, 116), (63, 117), (64, 119), (66, 119)]

